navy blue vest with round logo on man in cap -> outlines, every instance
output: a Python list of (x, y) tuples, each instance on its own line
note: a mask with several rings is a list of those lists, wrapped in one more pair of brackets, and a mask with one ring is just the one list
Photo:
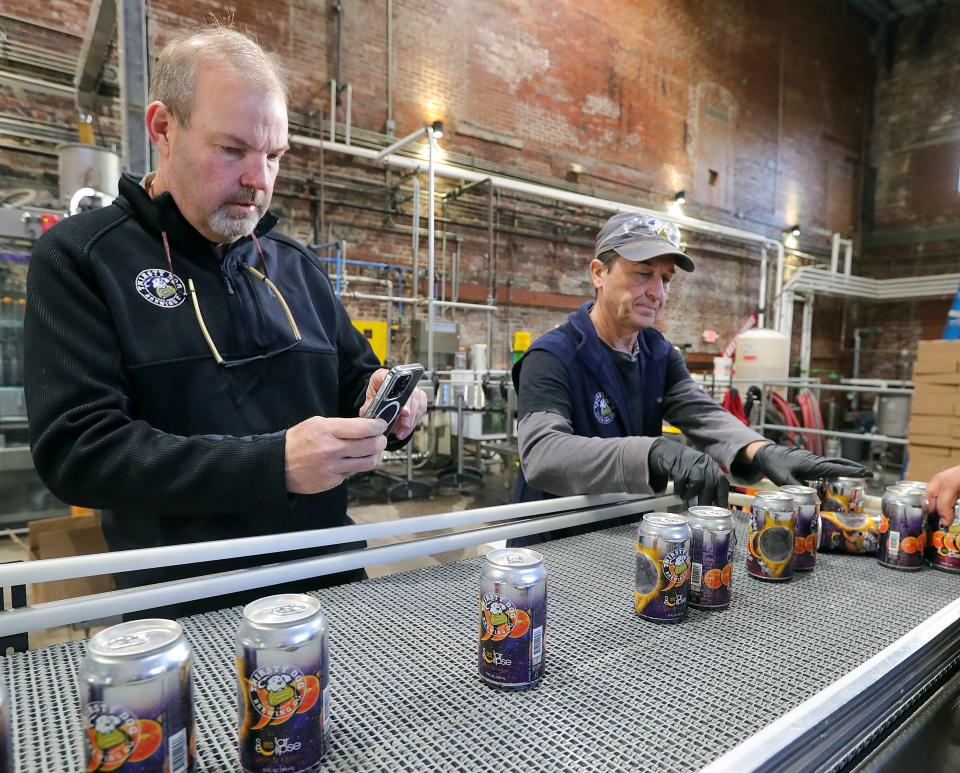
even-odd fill
[[(637, 368), (640, 369), (643, 390), (643, 416), (631, 416), (623, 379), (590, 319), (592, 306), (593, 301), (583, 304), (570, 315), (569, 321), (538, 338), (527, 354), (546, 351), (563, 363), (573, 397), (570, 409), (574, 434), (609, 438), (659, 437), (663, 424), (663, 395), (672, 386), (667, 383), (670, 342), (654, 328), (640, 331)], [(518, 392), (522, 367), (523, 358), (513, 366), (513, 385)], [(514, 502), (532, 502), (554, 496), (528, 485), (521, 464), (513, 492)]]

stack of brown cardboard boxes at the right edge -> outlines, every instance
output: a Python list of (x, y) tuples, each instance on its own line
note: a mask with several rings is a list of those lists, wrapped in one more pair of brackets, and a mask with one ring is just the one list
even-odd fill
[(913, 368), (907, 477), (960, 464), (960, 341), (920, 341)]

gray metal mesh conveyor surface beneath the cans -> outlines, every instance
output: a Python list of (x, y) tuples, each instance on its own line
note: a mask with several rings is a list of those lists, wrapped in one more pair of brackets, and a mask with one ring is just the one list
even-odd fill
[[(632, 611), (633, 527), (540, 549), (549, 573), (539, 689), (477, 677), (479, 559), (320, 591), (331, 628), (325, 770), (697, 770), (960, 594), (960, 576), (821, 555), (680, 625)], [(233, 633), (240, 610), (189, 618), (199, 768), (238, 770)], [(82, 771), (82, 643), (3, 659), (21, 771)]]

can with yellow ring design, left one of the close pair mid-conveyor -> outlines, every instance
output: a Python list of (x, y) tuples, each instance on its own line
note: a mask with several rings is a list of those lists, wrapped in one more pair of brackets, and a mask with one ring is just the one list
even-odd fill
[(644, 620), (679, 623), (687, 616), (690, 535), (682, 515), (647, 513), (640, 521), (633, 606)]

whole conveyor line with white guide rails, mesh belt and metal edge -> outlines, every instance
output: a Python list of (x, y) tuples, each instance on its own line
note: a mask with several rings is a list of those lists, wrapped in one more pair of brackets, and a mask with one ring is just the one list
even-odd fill
[[(738, 504), (748, 500), (735, 496)], [(868, 509), (876, 507), (868, 500)], [(24, 607), (10, 637), (544, 529), (597, 530), (539, 546), (548, 572), (547, 671), (526, 692), (477, 675), (478, 558), (317, 592), (330, 624), (332, 731), (325, 770), (926, 770), (960, 766), (960, 576), (904, 573), (821, 554), (814, 572), (764, 583), (744, 570), (737, 517), (733, 603), (656, 625), (632, 608), (635, 527), (672, 495), (500, 506), (270, 538), (0, 566), (20, 587), (104, 571), (408, 535), (396, 544)], [(412, 535), (412, 536), (410, 536)], [(239, 608), (182, 620), (195, 652), (202, 771), (237, 770), (232, 637)], [(21, 771), (81, 771), (83, 642), (10, 654)]]

